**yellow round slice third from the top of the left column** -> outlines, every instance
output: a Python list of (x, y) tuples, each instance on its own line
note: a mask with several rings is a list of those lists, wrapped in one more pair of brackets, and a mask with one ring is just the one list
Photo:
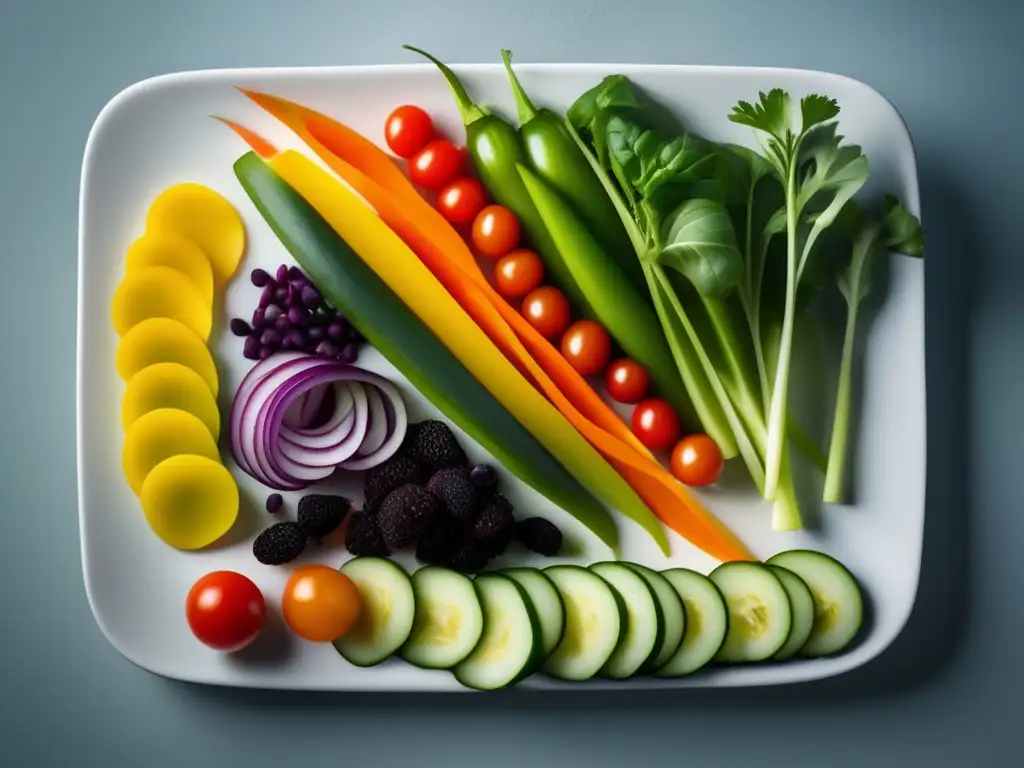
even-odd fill
[(114, 293), (111, 315), (119, 336), (150, 317), (170, 317), (195, 331), (205, 343), (213, 326), (213, 310), (199, 289), (169, 266), (126, 274)]

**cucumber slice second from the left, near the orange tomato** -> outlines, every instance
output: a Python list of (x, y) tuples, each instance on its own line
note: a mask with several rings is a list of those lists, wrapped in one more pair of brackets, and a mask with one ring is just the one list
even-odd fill
[(412, 578), (416, 618), (401, 657), (426, 670), (450, 670), (473, 652), (483, 633), (483, 609), (468, 577), (439, 565)]

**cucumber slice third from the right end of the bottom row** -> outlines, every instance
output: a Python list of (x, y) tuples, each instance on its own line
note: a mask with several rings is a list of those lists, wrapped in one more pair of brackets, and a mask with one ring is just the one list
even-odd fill
[(711, 580), (729, 609), (729, 631), (715, 658), (719, 662), (763, 662), (790, 637), (790, 596), (771, 569), (761, 563), (734, 561), (719, 565)]

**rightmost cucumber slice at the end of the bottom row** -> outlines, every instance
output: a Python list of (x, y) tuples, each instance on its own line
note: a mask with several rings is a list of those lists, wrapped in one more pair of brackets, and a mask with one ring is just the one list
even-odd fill
[(780, 552), (768, 562), (803, 579), (814, 598), (814, 627), (800, 655), (815, 658), (846, 648), (864, 621), (860, 585), (847, 567), (834, 557), (811, 550)]

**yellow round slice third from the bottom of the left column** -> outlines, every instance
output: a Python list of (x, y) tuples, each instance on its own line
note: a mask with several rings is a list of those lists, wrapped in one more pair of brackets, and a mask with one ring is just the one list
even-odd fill
[(121, 400), (125, 431), (138, 419), (160, 408), (176, 408), (199, 418), (214, 440), (220, 436), (220, 411), (203, 377), (180, 362), (158, 362), (128, 380)]

